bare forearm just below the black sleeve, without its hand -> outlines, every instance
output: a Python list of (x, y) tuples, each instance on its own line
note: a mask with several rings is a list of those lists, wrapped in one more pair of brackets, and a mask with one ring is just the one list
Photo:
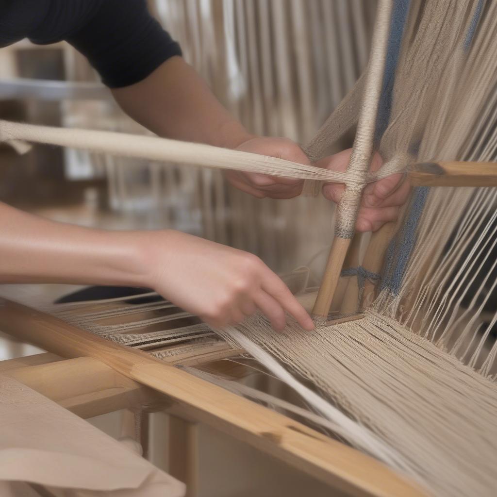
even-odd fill
[(122, 109), (159, 136), (236, 148), (252, 137), (181, 57), (145, 80), (112, 90)]

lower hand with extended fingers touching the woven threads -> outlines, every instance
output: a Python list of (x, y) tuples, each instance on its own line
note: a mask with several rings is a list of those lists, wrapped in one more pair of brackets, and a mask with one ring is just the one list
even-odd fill
[[(214, 328), (241, 323), (257, 309), (276, 331), (285, 311), (305, 330), (314, 324), (283, 281), (258, 257), (176, 231), (151, 232), (147, 248), (149, 284)], [(153, 243), (151, 243), (153, 242)]]

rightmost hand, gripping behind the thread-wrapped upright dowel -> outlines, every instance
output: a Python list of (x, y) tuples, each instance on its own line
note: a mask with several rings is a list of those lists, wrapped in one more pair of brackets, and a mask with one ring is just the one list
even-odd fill
[[(325, 157), (316, 166), (344, 171), (349, 163), (352, 149)], [(382, 165), (379, 154), (373, 156), (370, 170), (377, 171)], [(355, 229), (360, 232), (379, 230), (385, 223), (396, 221), (402, 205), (407, 201), (410, 184), (403, 174), (392, 174), (386, 178), (368, 184), (362, 192), (362, 202), (357, 216)], [(323, 186), (323, 195), (338, 203), (345, 186), (328, 183)]]

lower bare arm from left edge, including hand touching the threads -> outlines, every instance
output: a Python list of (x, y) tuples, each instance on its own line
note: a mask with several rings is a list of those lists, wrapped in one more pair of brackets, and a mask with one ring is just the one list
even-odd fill
[(0, 203), (0, 283), (114, 284), (154, 288), (212, 326), (260, 309), (276, 330), (285, 311), (312, 320), (259, 258), (172, 230), (103, 231), (56, 223)]

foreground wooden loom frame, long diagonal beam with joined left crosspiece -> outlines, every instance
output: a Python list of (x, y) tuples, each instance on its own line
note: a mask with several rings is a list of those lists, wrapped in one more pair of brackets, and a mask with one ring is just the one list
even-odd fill
[(0, 371), (82, 417), (143, 404), (161, 406), (168, 414), (228, 433), (349, 495), (425, 495), (372, 457), (304, 424), (53, 316), (2, 299), (0, 329), (51, 352), (4, 361)]

